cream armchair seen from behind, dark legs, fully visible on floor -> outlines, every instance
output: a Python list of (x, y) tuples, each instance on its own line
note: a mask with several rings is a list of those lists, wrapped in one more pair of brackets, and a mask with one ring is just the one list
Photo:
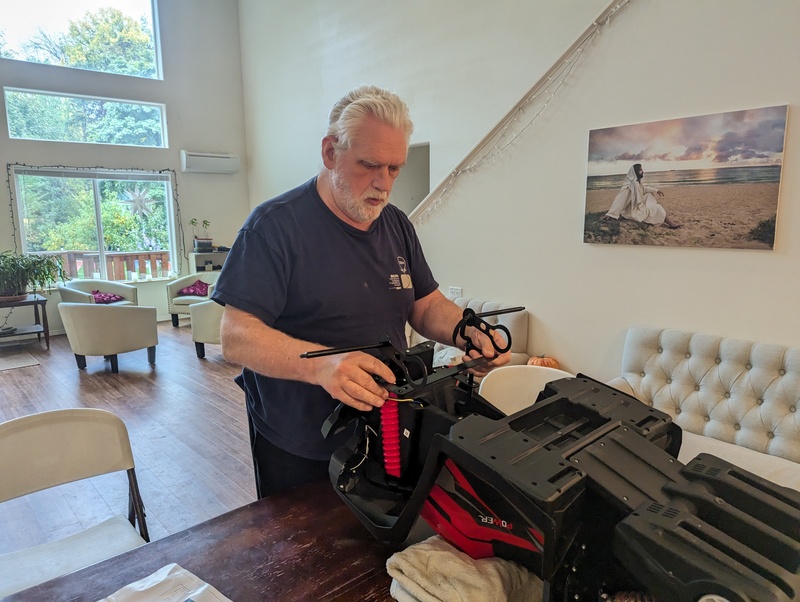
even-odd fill
[(145, 348), (147, 361), (156, 363), (155, 307), (59, 303), (58, 311), (79, 370), (86, 368), (87, 355), (102, 355), (116, 374), (117, 354)]

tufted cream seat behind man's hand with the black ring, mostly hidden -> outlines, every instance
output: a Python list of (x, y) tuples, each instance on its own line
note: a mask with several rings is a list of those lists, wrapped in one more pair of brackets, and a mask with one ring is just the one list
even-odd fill
[[(479, 299), (468, 299), (466, 297), (458, 297), (454, 299), (454, 303), (461, 309), (469, 307), (476, 314), (518, 307), (518, 305), (509, 303), (482, 301)], [(522, 310), (510, 314), (501, 314), (499, 316), (488, 316), (484, 319), (489, 324), (502, 324), (508, 328), (508, 332), (511, 334), (511, 361), (509, 363), (512, 365), (527, 363), (531, 357), (528, 354), (528, 312)], [(425, 340), (410, 328), (407, 334), (409, 346), (414, 346)], [(433, 351), (433, 365), (449, 366), (451, 364), (457, 364), (461, 361), (462, 357), (464, 357), (464, 352), (457, 347), (436, 343)]]

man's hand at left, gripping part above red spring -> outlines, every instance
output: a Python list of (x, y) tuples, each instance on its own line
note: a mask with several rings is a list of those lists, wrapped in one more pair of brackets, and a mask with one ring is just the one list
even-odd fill
[(374, 376), (394, 383), (394, 373), (379, 359), (362, 351), (315, 358), (317, 383), (331, 397), (357, 410), (379, 408), (389, 397)]

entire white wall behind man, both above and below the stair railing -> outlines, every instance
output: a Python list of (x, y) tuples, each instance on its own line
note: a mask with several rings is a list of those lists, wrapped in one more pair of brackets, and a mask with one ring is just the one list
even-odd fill
[[(251, 204), (313, 175), (327, 110), (364, 82), (407, 100), (435, 186), (607, 2), (283, 4), (240, 1)], [(630, 2), (535, 125), (419, 225), (441, 286), (525, 305), (529, 352), (601, 380), (637, 323), (800, 345), (798, 22), (793, 0)], [(773, 251), (582, 242), (589, 130), (783, 104)]]

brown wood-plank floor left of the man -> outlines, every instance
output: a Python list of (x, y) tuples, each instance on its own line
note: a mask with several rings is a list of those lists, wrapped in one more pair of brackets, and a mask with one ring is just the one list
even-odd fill
[[(78, 370), (65, 336), (15, 346), (38, 366), (0, 371), (0, 421), (58, 408), (102, 408), (128, 427), (151, 540), (255, 499), (240, 369), (206, 345), (197, 359), (188, 320), (158, 328), (156, 364), (145, 350)], [(0, 353), (4, 348), (0, 348)], [(2, 476), (0, 476), (2, 478)], [(124, 475), (71, 484), (0, 504), (0, 553), (52, 541), (127, 512)], [(88, 500), (88, 501), (87, 501)]]

